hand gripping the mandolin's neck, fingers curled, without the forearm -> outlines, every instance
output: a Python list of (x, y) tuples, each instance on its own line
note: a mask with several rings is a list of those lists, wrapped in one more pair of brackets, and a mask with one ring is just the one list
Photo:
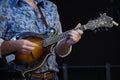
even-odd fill
[[(79, 27), (81, 27), (80, 23), (75, 28), (79, 28)], [(83, 34), (83, 31), (80, 29), (71, 30), (69, 34), (70, 34), (70, 37), (66, 39), (66, 43), (73, 45), (81, 39), (81, 35)]]

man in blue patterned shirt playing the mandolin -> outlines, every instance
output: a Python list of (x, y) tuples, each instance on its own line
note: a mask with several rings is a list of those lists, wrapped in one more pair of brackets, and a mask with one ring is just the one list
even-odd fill
[[(38, 44), (27, 39), (12, 40), (16, 34), (23, 32), (46, 34), (48, 28), (39, 11), (38, 4), (48, 28), (54, 28), (57, 31), (57, 35), (62, 33), (57, 6), (53, 2), (49, 0), (0, 0), (0, 39), (2, 39), (0, 49), (1, 55), (2, 57), (5, 56), (5, 59), (8, 59), (7, 57), (9, 57), (11, 53), (21, 52), (21, 54), (29, 54), (38, 46)], [(75, 28), (80, 26), (80, 23), (78, 23)], [(72, 45), (81, 39), (82, 34), (83, 31), (79, 29), (71, 30), (68, 38), (57, 42), (51, 52), (52, 55), (48, 57), (44, 66), (39, 70), (29, 73), (29, 76), (25, 77), (25, 79), (58, 80), (57, 72), (59, 72), (59, 69), (56, 56), (65, 57), (69, 55)], [(16, 65), (12, 58), (11, 61), (8, 61), (8, 64), (10, 68), (12, 67), (14, 70), (20, 67)], [(22, 80), (21, 78), (24, 78), (18, 75), (16, 76), (11, 75), (9, 77), (12, 78), (12, 80)]]

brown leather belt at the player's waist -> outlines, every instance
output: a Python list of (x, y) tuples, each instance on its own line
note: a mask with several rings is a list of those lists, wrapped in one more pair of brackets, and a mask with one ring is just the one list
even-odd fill
[(45, 73), (34, 73), (32, 74), (34, 78), (41, 78), (44, 80), (51, 80), (55, 76), (55, 72), (45, 72)]

